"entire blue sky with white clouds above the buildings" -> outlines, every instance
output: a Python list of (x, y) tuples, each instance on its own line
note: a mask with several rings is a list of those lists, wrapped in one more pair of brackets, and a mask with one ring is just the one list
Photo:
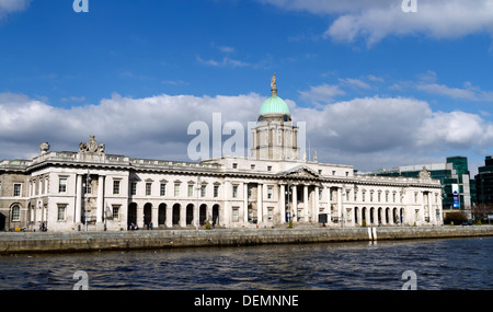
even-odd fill
[[(319, 160), (372, 170), (493, 146), (493, 1), (0, 0), (0, 159), (48, 141), (183, 159), (193, 120), (278, 94)], [(473, 2), (473, 3), (471, 3)]]

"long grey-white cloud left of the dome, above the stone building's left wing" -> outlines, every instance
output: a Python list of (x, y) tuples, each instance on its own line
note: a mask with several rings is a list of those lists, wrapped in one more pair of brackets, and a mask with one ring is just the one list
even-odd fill
[(221, 113), (222, 123), (253, 122), (263, 101), (253, 93), (145, 99), (113, 94), (98, 105), (60, 108), (25, 95), (0, 93), (0, 159), (32, 157), (43, 141), (54, 150), (77, 151), (79, 142), (92, 134), (108, 153), (187, 160), (192, 137), (186, 132), (192, 122), (211, 125), (216, 112)]

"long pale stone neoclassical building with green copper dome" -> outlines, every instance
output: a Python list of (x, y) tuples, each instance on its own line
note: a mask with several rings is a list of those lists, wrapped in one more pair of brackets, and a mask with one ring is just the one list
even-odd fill
[(355, 175), (351, 165), (299, 155), (286, 103), (272, 96), (253, 129), (251, 155), (202, 162), (107, 154), (94, 136), (78, 151), (0, 162), (0, 228), (121, 231), (198, 228), (439, 226), (442, 185), (417, 177)]

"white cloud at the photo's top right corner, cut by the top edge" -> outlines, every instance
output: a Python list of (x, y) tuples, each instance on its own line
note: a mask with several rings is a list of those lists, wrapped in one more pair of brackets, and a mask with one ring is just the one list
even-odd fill
[(493, 34), (490, 0), (416, 0), (417, 12), (402, 11), (401, 0), (262, 0), (286, 10), (330, 15), (334, 21), (324, 36), (341, 42), (363, 37), (372, 45), (389, 35), (425, 35), (457, 38), (486, 32)]

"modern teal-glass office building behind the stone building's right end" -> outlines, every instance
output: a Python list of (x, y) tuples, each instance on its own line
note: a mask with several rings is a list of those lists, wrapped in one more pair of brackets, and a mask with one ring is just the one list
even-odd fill
[(460, 210), (470, 216), (475, 198), (475, 181), (471, 180), (467, 157), (448, 157), (445, 163), (403, 165), (366, 174), (417, 177), (423, 167), (429, 172), (432, 178), (440, 181), (444, 213)]

